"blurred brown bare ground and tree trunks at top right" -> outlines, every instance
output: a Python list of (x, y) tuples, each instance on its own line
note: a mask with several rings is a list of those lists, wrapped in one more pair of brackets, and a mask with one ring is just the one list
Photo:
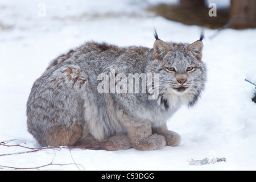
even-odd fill
[[(179, 0), (176, 5), (162, 4), (148, 9), (164, 18), (189, 25), (237, 29), (256, 27), (254, 0)], [(208, 13), (209, 16), (205, 16)]]

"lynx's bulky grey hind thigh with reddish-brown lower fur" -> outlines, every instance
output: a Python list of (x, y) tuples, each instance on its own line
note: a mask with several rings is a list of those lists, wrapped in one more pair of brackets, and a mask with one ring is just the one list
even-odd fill
[(73, 146), (81, 138), (83, 74), (77, 65), (63, 65), (32, 87), (27, 102), (28, 131), (43, 146)]

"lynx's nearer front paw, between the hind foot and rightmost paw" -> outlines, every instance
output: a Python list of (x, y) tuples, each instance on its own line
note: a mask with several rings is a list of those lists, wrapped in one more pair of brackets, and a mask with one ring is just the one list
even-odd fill
[(138, 150), (158, 150), (166, 146), (166, 139), (162, 135), (154, 134), (139, 142), (133, 143), (133, 147)]

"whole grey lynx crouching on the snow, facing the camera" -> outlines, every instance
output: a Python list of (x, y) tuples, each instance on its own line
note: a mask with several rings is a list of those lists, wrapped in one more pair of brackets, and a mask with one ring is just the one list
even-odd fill
[[(181, 137), (166, 122), (181, 105), (194, 105), (204, 89), (204, 35), (192, 44), (163, 42), (156, 31), (154, 36), (153, 48), (86, 42), (52, 60), (27, 101), (28, 131), (38, 143), (110, 151), (178, 146)], [(129, 74), (141, 76), (137, 84), (119, 84), (123, 92), (111, 92)], [(109, 92), (99, 92), (108, 86)], [(152, 99), (150, 87), (158, 90)]]

